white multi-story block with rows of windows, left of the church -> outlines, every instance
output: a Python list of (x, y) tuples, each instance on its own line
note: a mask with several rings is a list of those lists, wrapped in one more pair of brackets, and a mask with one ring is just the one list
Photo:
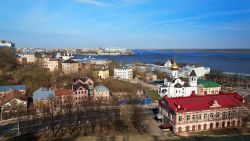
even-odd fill
[(133, 78), (132, 67), (121, 66), (114, 68), (114, 77), (121, 79), (132, 79)]

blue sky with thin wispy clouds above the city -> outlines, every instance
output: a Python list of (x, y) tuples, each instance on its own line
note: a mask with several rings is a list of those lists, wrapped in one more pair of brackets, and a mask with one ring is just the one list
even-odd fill
[(1, 0), (17, 47), (248, 48), (249, 0)]

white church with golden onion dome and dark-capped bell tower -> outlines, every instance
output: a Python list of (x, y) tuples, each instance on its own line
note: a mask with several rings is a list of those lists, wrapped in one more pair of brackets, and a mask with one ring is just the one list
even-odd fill
[(185, 97), (197, 93), (197, 76), (195, 71), (189, 75), (188, 82), (178, 76), (179, 66), (174, 61), (171, 65), (171, 77), (164, 79), (164, 84), (158, 88), (161, 97)]

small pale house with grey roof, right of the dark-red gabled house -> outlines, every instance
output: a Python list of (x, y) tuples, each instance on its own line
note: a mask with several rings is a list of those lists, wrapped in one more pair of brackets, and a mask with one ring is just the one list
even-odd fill
[(109, 100), (109, 90), (104, 85), (98, 85), (94, 88), (94, 100)]

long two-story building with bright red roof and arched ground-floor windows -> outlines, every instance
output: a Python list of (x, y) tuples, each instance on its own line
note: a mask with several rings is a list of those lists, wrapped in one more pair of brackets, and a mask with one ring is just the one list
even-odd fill
[(242, 125), (244, 99), (237, 93), (189, 97), (164, 97), (159, 101), (162, 127), (174, 133)]

